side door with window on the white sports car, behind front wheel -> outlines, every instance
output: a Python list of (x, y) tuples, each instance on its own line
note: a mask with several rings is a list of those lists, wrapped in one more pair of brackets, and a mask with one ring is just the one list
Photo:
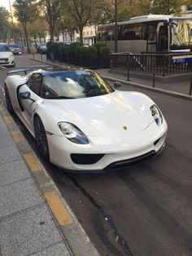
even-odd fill
[(30, 99), (22, 99), (20, 97), (21, 105), (23, 106), (24, 121), (30, 129), (33, 129), (33, 113), (35, 109), (41, 104), (41, 85), (42, 75), (41, 73), (33, 73), (28, 79), (27, 84), (20, 87), (19, 93), (29, 92)]

